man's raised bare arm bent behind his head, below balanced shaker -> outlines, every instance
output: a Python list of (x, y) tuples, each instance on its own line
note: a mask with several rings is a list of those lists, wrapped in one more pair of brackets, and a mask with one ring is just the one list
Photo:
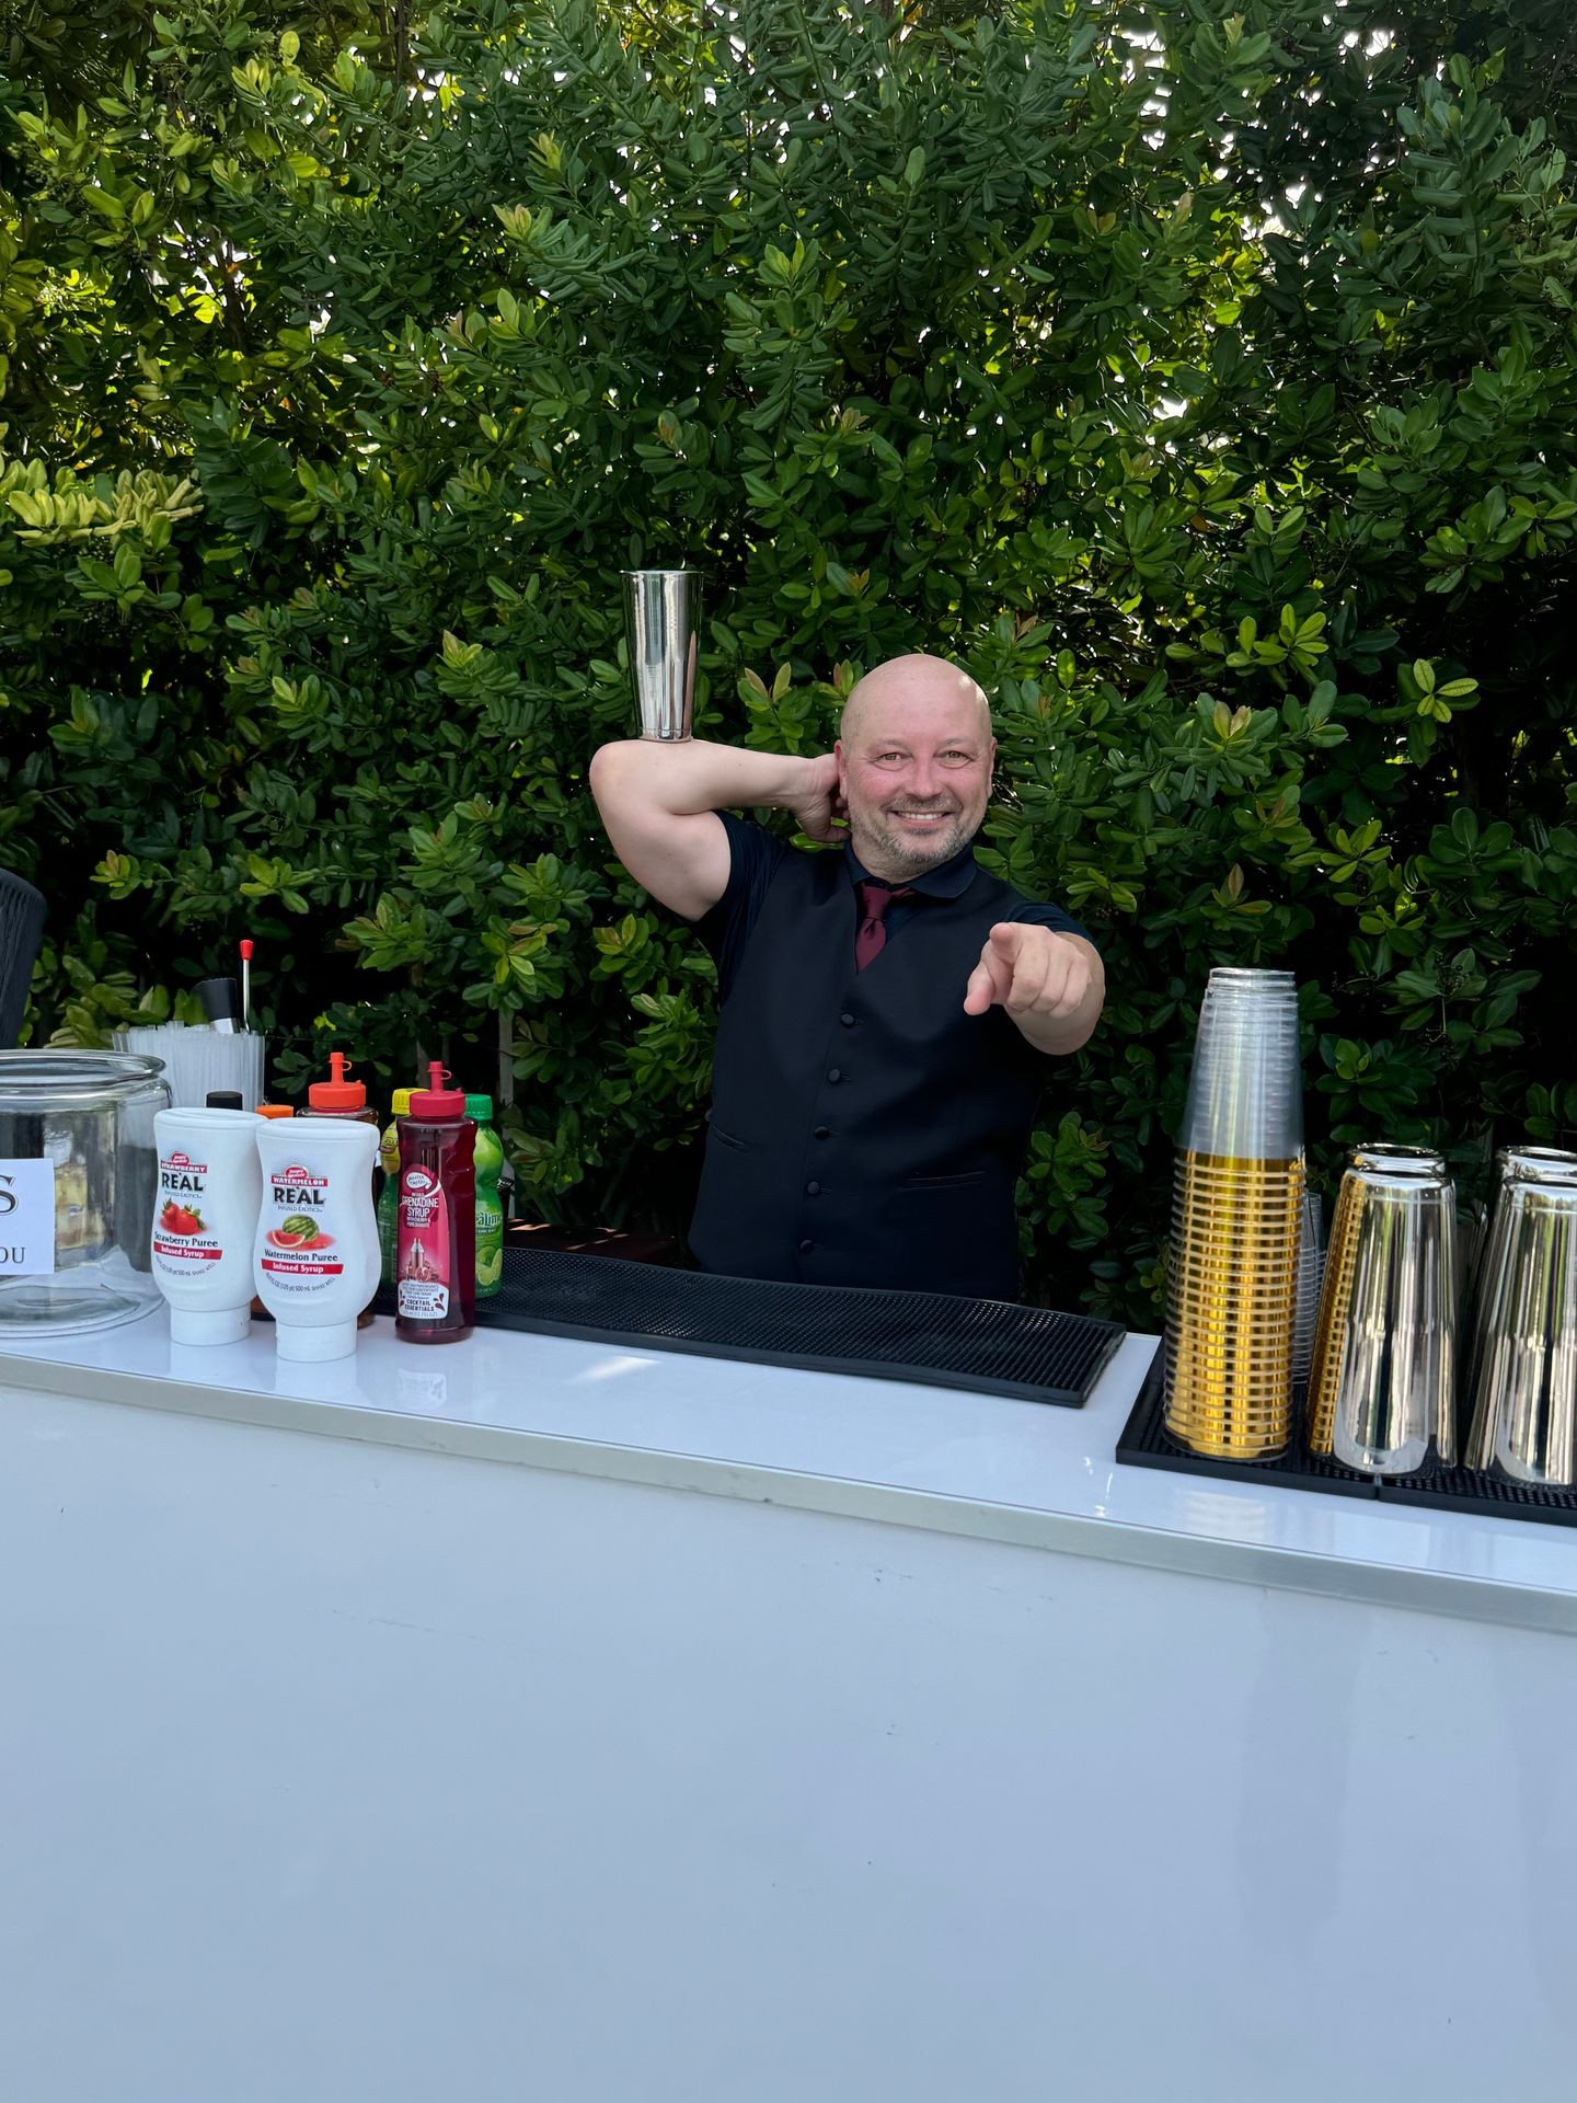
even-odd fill
[(791, 810), (812, 839), (833, 839), (837, 761), (791, 759), (738, 744), (629, 738), (591, 759), (591, 793), (614, 854), (660, 904), (700, 919), (728, 890), (719, 810)]

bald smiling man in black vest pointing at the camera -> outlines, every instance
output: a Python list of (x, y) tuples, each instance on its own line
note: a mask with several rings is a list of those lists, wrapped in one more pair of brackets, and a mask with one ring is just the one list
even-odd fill
[[(702, 1270), (1016, 1295), (1037, 1100), (1095, 1028), (1104, 976), (1074, 919), (976, 862), (995, 757), (984, 692), (921, 654), (858, 681), (831, 753), (595, 755), (614, 852), (717, 959)], [(734, 808), (788, 810), (843, 852)]]

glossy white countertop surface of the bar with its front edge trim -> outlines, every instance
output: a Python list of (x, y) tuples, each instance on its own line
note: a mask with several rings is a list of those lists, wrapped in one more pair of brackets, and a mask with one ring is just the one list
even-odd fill
[(1577, 1529), (1117, 1464), (1156, 1352), (1129, 1335), (1085, 1409), (484, 1329), (284, 1365), (273, 1331), (170, 1344), (162, 1310), (27, 1352), (0, 1380), (473, 1459), (1287, 1584), (1577, 1634)]

